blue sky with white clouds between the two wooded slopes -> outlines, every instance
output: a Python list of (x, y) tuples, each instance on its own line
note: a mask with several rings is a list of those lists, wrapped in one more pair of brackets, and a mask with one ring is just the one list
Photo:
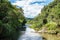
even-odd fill
[(41, 13), (41, 9), (52, 1), (53, 0), (10, 0), (12, 5), (17, 5), (24, 10), (24, 16), (27, 18), (36, 17)]

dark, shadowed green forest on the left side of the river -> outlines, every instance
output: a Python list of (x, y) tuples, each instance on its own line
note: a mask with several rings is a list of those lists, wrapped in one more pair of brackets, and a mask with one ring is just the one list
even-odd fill
[(13, 6), (8, 0), (0, 0), (0, 40), (17, 40), (26, 23), (23, 14), (22, 8)]

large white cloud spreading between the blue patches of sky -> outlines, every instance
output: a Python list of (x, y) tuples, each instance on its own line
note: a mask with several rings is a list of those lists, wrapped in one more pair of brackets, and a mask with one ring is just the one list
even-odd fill
[(37, 3), (30, 5), (31, 2), (36, 1), (45, 2), (46, 0), (17, 0), (15, 3), (12, 4), (23, 7), (25, 17), (33, 18), (39, 13), (41, 13), (41, 9), (44, 7), (44, 5), (40, 5)]

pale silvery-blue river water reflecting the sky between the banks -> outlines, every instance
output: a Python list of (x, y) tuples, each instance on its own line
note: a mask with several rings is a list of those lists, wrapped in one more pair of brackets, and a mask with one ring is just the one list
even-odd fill
[(35, 30), (26, 25), (26, 31), (22, 31), (22, 35), (18, 40), (42, 40), (42, 37), (40, 34), (36, 33)]

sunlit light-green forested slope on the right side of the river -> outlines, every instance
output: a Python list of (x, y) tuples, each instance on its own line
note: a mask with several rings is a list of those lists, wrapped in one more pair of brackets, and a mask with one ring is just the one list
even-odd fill
[(49, 5), (44, 6), (41, 13), (27, 23), (32, 24), (35, 30), (46, 29), (48, 32), (60, 32), (60, 0), (54, 0)]

